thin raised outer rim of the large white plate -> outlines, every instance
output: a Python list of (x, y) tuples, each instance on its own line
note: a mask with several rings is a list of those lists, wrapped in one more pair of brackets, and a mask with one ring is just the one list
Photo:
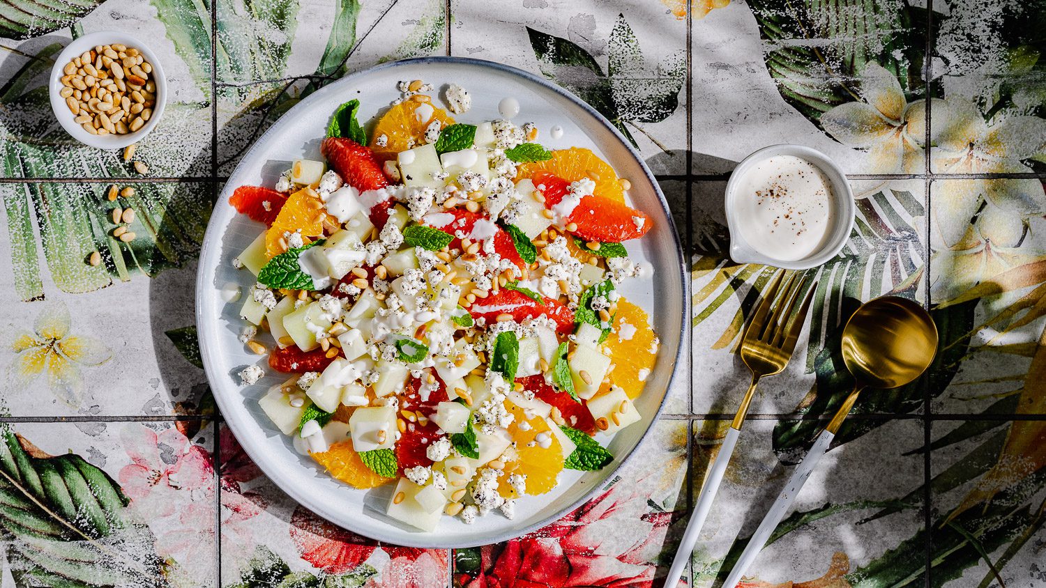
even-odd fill
[[(685, 352), (685, 349), (687, 347), (684, 345), (685, 340), (684, 335), (686, 334), (686, 327), (690, 308), (690, 300), (689, 300), (690, 284), (689, 281), (687, 280), (687, 275), (686, 275), (685, 252), (683, 250), (682, 241), (679, 238), (679, 232), (676, 229), (676, 224), (673, 218), (672, 209), (668, 207), (668, 203), (664, 197), (664, 193), (661, 191), (661, 187), (658, 184), (657, 179), (655, 178), (654, 173), (651, 172), (650, 168), (646, 166), (646, 162), (643, 161), (638, 150), (632, 145), (632, 143), (630, 143), (621, 135), (621, 133), (617, 130), (617, 127), (615, 127), (609, 120), (607, 120), (606, 117), (599, 114), (599, 112), (597, 112), (587, 102), (585, 102), (574, 94), (568, 92), (567, 90), (563, 89), (559, 85), (553, 84), (548, 79), (538, 76), (531, 72), (516, 68), (514, 66), (497, 62), (490, 62), (486, 60), (477, 60), (474, 57), (458, 57), (452, 55), (430, 55), (422, 57), (411, 57), (407, 60), (397, 60), (393, 62), (379, 64), (377, 66), (345, 75), (339, 79), (332, 81), (331, 84), (324, 86), (323, 88), (317, 90), (316, 92), (312, 93), (303, 100), (299, 101), (297, 104), (292, 107), (289, 111), (283, 113), (283, 115), (280, 116), (279, 119), (277, 119), (269, 128), (267, 128), (266, 132), (263, 133), (260, 137), (254, 140), (254, 142), (251, 144), (251, 147), (247, 149), (246, 152), (244, 152), (240, 161), (236, 163), (235, 168), (233, 168), (232, 172), (229, 173), (228, 179), (225, 181), (224, 187), (217, 195), (214, 203), (214, 210), (211, 212), (211, 217), (210, 220), (208, 220), (207, 222), (207, 229), (204, 232), (203, 241), (200, 246), (200, 255), (198, 257), (198, 262), (202, 261), (205, 257), (208, 257), (209, 249), (211, 246), (214, 246), (214, 243), (221, 242), (222, 237), (224, 236), (228, 228), (227, 225), (219, 227), (218, 215), (214, 214), (214, 211), (217, 211), (219, 207), (231, 206), (226, 202), (224, 196), (226, 192), (229, 190), (229, 186), (235, 184), (235, 180), (237, 179), (237, 177), (247, 173), (246, 171), (247, 168), (244, 167), (244, 162), (252, 159), (251, 156), (254, 154), (254, 151), (259, 149), (260, 148), (259, 145), (265, 144), (266, 140), (271, 135), (275, 135), (277, 132), (282, 130), (283, 126), (291, 124), (292, 117), (290, 117), (289, 115), (291, 115), (292, 113), (294, 113), (294, 111), (298, 109), (305, 110), (309, 108), (311, 102), (319, 101), (326, 94), (336, 92), (341, 86), (346, 84), (351, 84), (354, 80), (366, 77), (368, 75), (373, 74), (374, 72), (386, 69), (395, 69), (401, 67), (424, 66), (428, 64), (463, 65), (467, 67), (487, 68), (502, 73), (507, 73), (516, 77), (523, 78), (527, 83), (537, 84), (538, 86), (541, 86), (546, 90), (550, 90), (555, 94), (559, 94), (560, 96), (569, 100), (570, 102), (573, 102), (574, 105), (579, 107), (589, 116), (597, 120), (604, 127), (610, 131), (610, 133), (617, 139), (618, 143), (620, 143), (621, 146), (623, 146), (628, 150), (629, 155), (636, 161), (636, 163), (639, 164), (639, 167), (642, 170), (643, 174), (646, 177), (646, 180), (654, 187), (654, 192), (657, 194), (658, 197), (658, 204), (661, 206), (661, 210), (668, 221), (668, 229), (669, 229), (669, 234), (672, 235), (672, 242), (676, 249), (676, 262), (677, 262), (676, 265), (677, 269), (679, 271), (680, 283), (682, 284), (682, 290), (679, 292), (679, 295), (682, 296), (682, 303), (683, 303), (682, 313), (679, 320), (679, 329), (677, 333), (677, 336), (679, 338), (679, 344), (677, 345), (676, 356), (672, 359), (673, 360), (672, 374), (668, 377), (664, 396), (661, 398), (661, 402), (658, 404), (657, 410), (655, 410), (653, 417), (651, 418), (650, 424), (647, 424), (642, 434), (639, 436), (639, 439), (636, 442), (635, 447), (633, 447), (633, 449), (629, 451), (629, 453), (617, 463), (614, 470), (610, 472), (601, 483), (592, 485), (591, 489), (582, 494), (576, 500), (571, 502), (569, 505), (546, 517), (543, 517), (542, 519), (523, 527), (522, 530), (518, 531), (513, 530), (511, 532), (508, 533), (493, 534), (484, 537), (477, 536), (473, 540), (467, 541), (463, 544), (457, 544), (457, 543), (445, 544), (444, 542), (440, 541), (432, 541), (432, 539), (434, 539), (438, 534), (424, 533), (424, 532), (408, 536), (410, 538), (416, 536), (417, 540), (408, 539), (404, 541), (401, 539), (395, 539), (394, 541), (392, 541), (396, 545), (402, 545), (405, 547), (467, 548), (467, 547), (477, 547), (481, 545), (488, 545), (492, 543), (507, 541), (517, 537), (522, 537), (539, 528), (547, 526), (548, 524), (563, 518), (563, 516), (575, 511), (578, 507), (591, 500), (596, 493), (604, 491), (604, 489), (607, 488), (608, 485), (617, 483), (618, 480), (615, 480), (614, 476), (617, 474), (617, 472), (620, 471), (622, 467), (624, 467), (635, 457), (636, 449), (650, 437), (651, 430), (654, 428), (654, 425), (657, 423), (661, 414), (664, 411), (665, 402), (668, 399), (668, 393), (672, 391), (674, 384), (677, 383), (677, 378), (680, 377), (681, 360), (685, 359), (683, 357), (683, 353)], [(210, 316), (205, 317), (202, 315), (202, 309), (203, 309), (202, 301), (205, 298), (208, 298), (205, 296), (205, 292), (210, 292), (210, 296), (218, 295), (218, 290), (213, 287), (211, 283), (212, 271), (208, 272), (208, 269), (210, 269), (210, 267), (205, 265), (204, 263), (199, 263), (199, 266), (197, 267), (197, 279), (195, 286), (196, 292), (194, 300), (196, 304), (195, 314), (196, 314), (196, 324), (198, 332), (201, 331), (201, 325), (203, 324), (204, 320), (209, 321), (210, 319), (212, 319)], [(231, 403), (231, 400), (228, 401), (227, 404), (227, 401), (223, 400), (224, 395), (218, 392), (220, 389), (215, 386), (213, 382), (219, 382), (220, 378), (222, 377), (228, 377), (228, 374), (221, 373), (219, 368), (215, 366), (215, 363), (218, 362), (217, 356), (220, 355), (220, 350), (215, 349), (214, 346), (210, 345), (209, 343), (205, 343), (206, 340), (207, 340), (206, 337), (203, 336), (201, 336), (199, 340), (200, 355), (201, 358), (203, 359), (203, 364), (204, 364), (204, 373), (207, 377), (208, 384), (211, 387), (214, 401), (218, 403), (218, 407), (222, 416), (221, 420), (225, 422), (226, 426), (229, 427), (232, 434), (236, 438), (237, 443), (240, 443), (241, 436), (238, 434), (237, 429), (241, 426), (240, 420), (244, 415), (246, 415), (246, 413), (244, 413), (243, 415), (238, 415), (237, 410), (235, 410), (235, 406)], [(228, 408), (228, 410), (226, 410), (226, 408)], [(235, 415), (234, 418), (231, 417), (233, 415)], [(244, 424), (244, 426), (247, 425)], [(298, 487), (295, 484), (290, 484), (290, 483), (281, 484), (279, 480), (282, 479), (282, 476), (274, 475), (273, 472), (278, 472), (282, 468), (276, 463), (270, 463), (266, 452), (260, 451), (257, 448), (249, 449), (248, 446), (243, 443), (241, 443), (241, 446), (243, 447), (244, 451), (248, 454), (248, 456), (250, 456), (250, 458), (258, 466), (262, 472), (277, 488), (279, 488), (280, 491), (287, 493), (298, 504), (301, 504), (302, 507), (309, 509), (314, 514), (322, 517), (324, 520), (331, 522), (336, 526), (351, 531), (353, 533), (357, 533), (359, 535), (362, 535), (364, 537), (377, 541), (383, 541), (383, 542), (386, 541), (386, 539), (380, 537), (372, 537), (369, 531), (363, 531), (355, 526), (346, 526), (343, 525), (341, 522), (337, 522), (331, 516), (327, 516), (327, 514), (324, 512), (326, 509), (319, 508), (321, 505), (313, 504), (312, 501), (304, 499), (303, 492), (301, 492), (300, 489), (298, 489)]]

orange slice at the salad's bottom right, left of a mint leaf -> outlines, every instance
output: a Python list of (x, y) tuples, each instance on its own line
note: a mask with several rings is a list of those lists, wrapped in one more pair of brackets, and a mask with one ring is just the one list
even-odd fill
[[(505, 475), (498, 478), (498, 492), (505, 498), (519, 498), (516, 489), (508, 484), (508, 475), (518, 473), (526, 476), (527, 494), (544, 494), (555, 488), (555, 479), (563, 471), (563, 446), (543, 417), (535, 415), (528, 419), (522, 408), (508, 400), (505, 408), (515, 417), (508, 425), (508, 434), (516, 442), (518, 457), (506, 464)], [(528, 427), (520, 427), (521, 423), (527, 423)]]

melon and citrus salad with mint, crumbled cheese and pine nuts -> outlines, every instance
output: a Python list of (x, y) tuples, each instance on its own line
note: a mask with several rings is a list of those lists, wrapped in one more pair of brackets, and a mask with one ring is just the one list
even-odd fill
[[(511, 518), (564, 469), (613, 462), (658, 348), (618, 292), (647, 272), (624, 243), (652, 221), (591, 150), (400, 89), (369, 135), (347, 102), (323, 161), (230, 197), (259, 224), (233, 260), (256, 282), (241, 339), (268, 356), (240, 376), (281, 375), (258, 402), (293, 446), (353, 487), (394, 486), (388, 515), (431, 532)], [(446, 98), (469, 110), (463, 89)]]

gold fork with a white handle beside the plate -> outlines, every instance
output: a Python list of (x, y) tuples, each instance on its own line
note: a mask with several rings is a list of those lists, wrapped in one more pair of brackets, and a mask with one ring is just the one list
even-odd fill
[(705, 476), (704, 485), (701, 487), (701, 495), (693, 507), (693, 514), (690, 515), (690, 522), (686, 525), (679, 551), (676, 552), (676, 559), (673, 560), (672, 568), (665, 579), (665, 587), (676, 586), (679, 577), (686, 567), (686, 562), (690, 559), (693, 546), (698, 542), (698, 536), (701, 534), (701, 527), (705, 524), (712, 500), (719, 491), (720, 483), (723, 481), (723, 474), (730, 463), (730, 456), (737, 445), (737, 437), (741, 434), (741, 427), (748, 415), (748, 407), (752, 403), (755, 385), (764, 377), (779, 374), (784, 370), (792, 357), (792, 351), (795, 350), (795, 343), (799, 338), (802, 325), (806, 322), (806, 311), (810, 310), (810, 301), (817, 289), (817, 284), (814, 283), (806, 296), (802, 297), (802, 305), (793, 317), (792, 312), (799, 302), (799, 293), (802, 291), (806, 278), (802, 277), (796, 280), (795, 274), (789, 277), (775, 305), (774, 300), (777, 298), (777, 289), (783, 276), (784, 272), (774, 276), (763, 296), (763, 302), (755, 310), (748, 328), (745, 329), (745, 336), (741, 342), (741, 360), (751, 370), (752, 383), (748, 386), (744, 400), (741, 401), (741, 407), (737, 408), (733, 423), (727, 429), (726, 438), (723, 439), (723, 445), (720, 446), (715, 461), (712, 462), (708, 470), (708, 475)]

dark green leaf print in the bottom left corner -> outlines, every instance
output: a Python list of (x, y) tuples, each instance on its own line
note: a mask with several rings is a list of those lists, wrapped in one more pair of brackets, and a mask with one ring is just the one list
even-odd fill
[(162, 583), (152, 534), (127, 516), (116, 481), (81, 456), (42, 455), (5, 427), (0, 497), (0, 530), (17, 585)]

